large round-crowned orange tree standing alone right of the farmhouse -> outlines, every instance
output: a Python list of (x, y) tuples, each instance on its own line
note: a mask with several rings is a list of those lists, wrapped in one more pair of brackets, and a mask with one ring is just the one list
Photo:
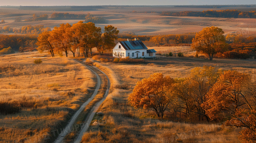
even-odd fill
[(196, 33), (192, 40), (191, 48), (195, 51), (202, 52), (213, 59), (213, 55), (225, 48), (224, 31), (218, 27), (206, 27)]

